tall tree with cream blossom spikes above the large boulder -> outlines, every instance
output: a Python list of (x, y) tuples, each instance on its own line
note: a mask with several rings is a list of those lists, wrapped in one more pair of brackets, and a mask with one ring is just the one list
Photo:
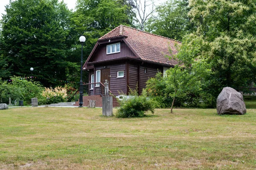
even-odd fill
[(191, 0), (189, 6), (212, 78), (236, 89), (255, 82), (256, 0)]

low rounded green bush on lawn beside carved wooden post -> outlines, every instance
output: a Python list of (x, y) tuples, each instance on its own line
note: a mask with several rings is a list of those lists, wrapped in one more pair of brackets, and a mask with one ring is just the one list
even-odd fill
[(146, 116), (145, 112), (147, 111), (154, 114), (153, 100), (148, 98), (145, 93), (139, 96), (136, 89), (129, 91), (129, 96), (124, 96), (122, 100), (119, 100), (120, 107), (117, 109), (116, 117), (143, 117)]

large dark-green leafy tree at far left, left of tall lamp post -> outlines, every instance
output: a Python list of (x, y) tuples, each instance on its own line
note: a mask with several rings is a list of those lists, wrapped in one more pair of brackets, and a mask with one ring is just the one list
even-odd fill
[(10, 1), (3, 15), (1, 45), (3, 57), (12, 65), (11, 74), (41, 78), (45, 86), (66, 80), (71, 12), (58, 0)]

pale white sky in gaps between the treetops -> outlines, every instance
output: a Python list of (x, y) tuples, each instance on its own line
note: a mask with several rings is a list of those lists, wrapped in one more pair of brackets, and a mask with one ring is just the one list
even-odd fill
[[(59, 0), (60, 1), (60, 0)], [(159, 5), (162, 2), (165, 2), (166, 0), (154, 0), (156, 5)], [(76, 6), (76, 0), (64, 0), (64, 3), (67, 4), (67, 7), (69, 9), (75, 9)], [(0, 0), (0, 19), (2, 19), (2, 14), (6, 14), (5, 12), (5, 6), (9, 4), (9, 0)]]

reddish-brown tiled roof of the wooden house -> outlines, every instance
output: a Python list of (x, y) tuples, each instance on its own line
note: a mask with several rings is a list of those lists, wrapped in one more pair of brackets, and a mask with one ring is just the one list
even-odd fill
[(177, 64), (175, 60), (169, 60), (165, 56), (171, 55), (169, 53), (169, 47), (172, 49), (172, 54), (177, 54), (175, 43), (181, 44), (180, 41), (122, 25), (114, 28), (108, 34), (105, 34), (99, 38), (99, 40), (119, 36), (127, 37), (126, 40), (142, 60), (157, 62), (165, 65)]

